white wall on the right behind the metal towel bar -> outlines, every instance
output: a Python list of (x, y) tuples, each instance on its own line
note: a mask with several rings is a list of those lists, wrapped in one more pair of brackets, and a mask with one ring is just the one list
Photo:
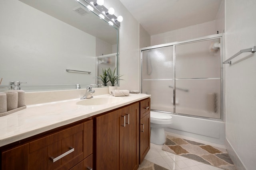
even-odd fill
[[(256, 1), (226, 0), (226, 56), (256, 45)], [(243, 53), (225, 65), (226, 139), (234, 162), (256, 167), (256, 53)], [(239, 164), (239, 169), (243, 169)]]

